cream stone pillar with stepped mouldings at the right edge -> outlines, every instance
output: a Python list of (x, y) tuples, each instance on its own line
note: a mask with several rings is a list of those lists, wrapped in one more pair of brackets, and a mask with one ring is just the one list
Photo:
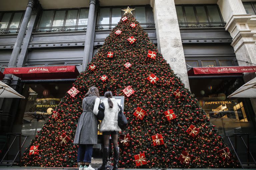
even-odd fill
[[(256, 64), (256, 43), (254, 39), (256, 37), (254, 30), (256, 17), (246, 14), (241, 0), (218, 0), (217, 4), (224, 21), (227, 23), (225, 29), (229, 31), (233, 38), (231, 45), (234, 47), (238, 64), (240, 66)], [(244, 73), (243, 79), (248, 82), (255, 76), (255, 73)], [(250, 101), (254, 113), (256, 113), (256, 99), (251, 98)]]

